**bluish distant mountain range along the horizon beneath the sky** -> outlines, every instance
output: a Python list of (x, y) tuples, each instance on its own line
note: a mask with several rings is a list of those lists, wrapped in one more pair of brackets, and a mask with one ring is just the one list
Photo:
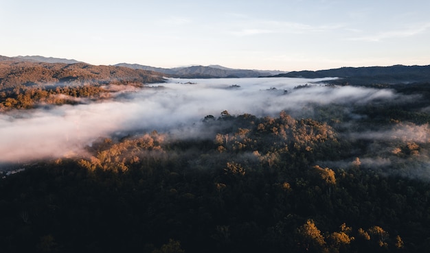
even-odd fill
[[(13, 62), (33, 62), (33, 63), (49, 63), (49, 64), (85, 64), (86, 68), (97, 69), (93, 73), (106, 73), (107, 69), (122, 67), (136, 71), (152, 71), (155, 75), (165, 77), (179, 78), (220, 78), (220, 77), (303, 77), (303, 78), (322, 78), (322, 77), (340, 77), (337, 81), (330, 81), (335, 84), (409, 84), (416, 82), (430, 82), (430, 65), (427, 66), (404, 66), (394, 65), (390, 67), (342, 67), (339, 69), (326, 69), (320, 71), (291, 71), (282, 73), (282, 71), (260, 71), (250, 69), (229, 69), (220, 65), (209, 66), (190, 66), (177, 67), (171, 69), (150, 67), (141, 64), (120, 63), (113, 66), (95, 66), (79, 62), (78, 60), (69, 60), (63, 58), (52, 58), (43, 56), (16, 56), (6, 57), (0, 56), (0, 61)], [(80, 68), (76, 66), (76, 68)], [(131, 75), (146, 75), (149, 72), (133, 73)], [(125, 76), (124, 76), (125, 77)], [(107, 74), (103, 78), (108, 78)], [(1, 77), (0, 77), (1, 81)]]

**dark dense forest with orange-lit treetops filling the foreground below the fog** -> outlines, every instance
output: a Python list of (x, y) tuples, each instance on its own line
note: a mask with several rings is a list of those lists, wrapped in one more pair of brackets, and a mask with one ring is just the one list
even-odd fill
[[(3, 110), (102, 88), (20, 89)], [(190, 136), (113, 134), (81, 156), (10, 165), (25, 170), (0, 180), (2, 252), (429, 252), (430, 88), (389, 88), (416, 99), (224, 110)]]

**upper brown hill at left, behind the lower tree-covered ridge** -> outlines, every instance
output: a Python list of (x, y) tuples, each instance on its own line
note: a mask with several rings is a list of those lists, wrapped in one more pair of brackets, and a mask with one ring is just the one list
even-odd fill
[(43, 84), (131, 84), (163, 82), (163, 74), (126, 67), (95, 66), (84, 62), (48, 63), (23, 58), (0, 58), (0, 88)]

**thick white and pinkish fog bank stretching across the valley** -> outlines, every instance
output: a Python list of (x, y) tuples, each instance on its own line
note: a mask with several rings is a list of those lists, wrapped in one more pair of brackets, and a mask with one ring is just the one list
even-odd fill
[[(95, 138), (110, 134), (192, 132), (206, 115), (218, 117), (223, 110), (257, 117), (278, 116), (287, 110), (299, 117), (309, 103), (350, 105), (400, 98), (390, 90), (319, 83), (328, 79), (170, 79), (151, 85), (159, 88), (118, 92), (109, 101), (14, 110), (0, 115), (0, 164), (72, 156)], [(192, 133), (181, 132), (183, 138), (187, 135)]]

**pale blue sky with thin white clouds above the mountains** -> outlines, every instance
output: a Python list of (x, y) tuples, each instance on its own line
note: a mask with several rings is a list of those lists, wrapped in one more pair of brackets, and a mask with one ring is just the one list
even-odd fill
[(430, 1), (0, 0), (0, 55), (152, 67), (430, 64)]

